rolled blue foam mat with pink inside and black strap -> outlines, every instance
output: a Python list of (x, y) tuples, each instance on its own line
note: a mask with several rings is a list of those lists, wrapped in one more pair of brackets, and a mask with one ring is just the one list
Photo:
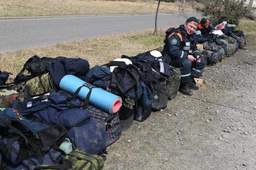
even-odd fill
[[(59, 87), (67, 93), (74, 94), (76, 90), (85, 83), (85, 81), (75, 77), (74, 75), (65, 75), (61, 79)], [(84, 86), (78, 93), (78, 96), (85, 99), (89, 91), (90, 89)], [(95, 107), (111, 114), (117, 113), (122, 105), (122, 99), (120, 96), (114, 95), (97, 87), (92, 88), (89, 102)]]

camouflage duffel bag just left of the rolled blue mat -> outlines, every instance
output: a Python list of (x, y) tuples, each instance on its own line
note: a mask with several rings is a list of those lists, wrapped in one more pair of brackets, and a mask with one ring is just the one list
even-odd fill
[(23, 88), (23, 92), (28, 95), (28, 98), (56, 91), (52, 76), (49, 73), (39, 75), (26, 81)]

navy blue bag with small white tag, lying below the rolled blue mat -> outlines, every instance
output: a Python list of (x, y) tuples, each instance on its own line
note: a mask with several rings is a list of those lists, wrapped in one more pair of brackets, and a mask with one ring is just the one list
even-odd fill
[(52, 92), (19, 104), (14, 102), (13, 107), (19, 108), (22, 116), (34, 116), (44, 122), (72, 128), (88, 119), (86, 111), (79, 109), (80, 105), (79, 99), (72, 99), (64, 92)]

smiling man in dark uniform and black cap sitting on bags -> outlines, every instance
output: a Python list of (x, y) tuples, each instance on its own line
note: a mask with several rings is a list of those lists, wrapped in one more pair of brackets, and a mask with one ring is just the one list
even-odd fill
[[(192, 81), (193, 77), (201, 77), (205, 60), (197, 50), (195, 41), (195, 30), (198, 19), (190, 17), (184, 25), (175, 29), (169, 37), (166, 37), (163, 53), (166, 60), (171, 59), (170, 65), (181, 68), (180, 92), (192, 96), (192, 90), (198, 90)], [(192, 89), (192, 90), (191, 90)]]

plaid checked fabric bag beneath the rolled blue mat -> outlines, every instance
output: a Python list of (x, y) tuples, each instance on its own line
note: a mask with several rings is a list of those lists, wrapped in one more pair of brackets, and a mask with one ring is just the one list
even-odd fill
[(106, 136), (108, 146), (117, 141), (121, 136), (121, 123), (118, 113), (109, 114), (99, 108), (88, 105), (85, 108), (90, 114), (91, 118), (101, 120), (106, 123)]

